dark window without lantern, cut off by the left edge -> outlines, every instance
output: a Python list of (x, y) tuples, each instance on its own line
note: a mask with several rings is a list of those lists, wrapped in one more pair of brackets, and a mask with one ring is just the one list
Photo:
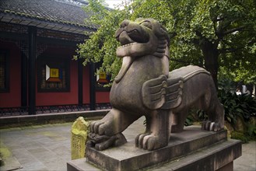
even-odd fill
[(0, 92), (9, 92), (9, 51), (0, 49)]

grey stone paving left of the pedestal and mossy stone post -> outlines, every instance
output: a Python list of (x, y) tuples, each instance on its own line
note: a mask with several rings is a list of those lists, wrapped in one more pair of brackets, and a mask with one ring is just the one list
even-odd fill
[(23, 167), (19, 170), (66, 170), (66, 162), (71, 160), (71, 126), (67, 123), (2, 129), (0, 138)]

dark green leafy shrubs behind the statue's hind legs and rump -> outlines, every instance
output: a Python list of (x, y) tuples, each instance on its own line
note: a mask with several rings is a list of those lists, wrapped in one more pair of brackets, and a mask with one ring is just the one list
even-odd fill
[[(225, 109), (225, 120), (236, 130), (237, 120), (240, 119), (245, 127), (244, 136), (256, 139), (256, 125), (249, 123), (251, 117), (256, 118), (256, 99), (247, 95), (237, 96), (236, 93), (219, 90), (219, 101), (223, 103)], [(195, 114), (196, 113), (196, 114)], [(207, 120), (208, 115), (203, 110), (192, 109), (185, 120), (185, 126), (191, 125), (195, 121)], [(237, 137), (233, 135), (233, 137)]]

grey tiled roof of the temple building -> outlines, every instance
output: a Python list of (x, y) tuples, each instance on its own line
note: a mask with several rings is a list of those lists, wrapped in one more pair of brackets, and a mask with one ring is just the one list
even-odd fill
[[(37, 26), (38, 28), (83, 35), (85, 33), (89, 35), (97, 29), (97, 26), (92, 23), (84, 23), (82, 21), (88, 17), (88, 14), (82, 10), (80, 5), (58, 0), (1, 1), (1, 22), (15, 23), (23, 26)], [(76, 2), (79, 2), (79, 0), (76, 0)]]

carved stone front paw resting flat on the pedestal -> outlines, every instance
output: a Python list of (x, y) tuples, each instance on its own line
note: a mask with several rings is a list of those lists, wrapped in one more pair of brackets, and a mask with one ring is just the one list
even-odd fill
[(135, 145), (136, 147), (152, 151), (167, 146), (168, 138), (160, 138), (160, 136), (153, 134), (139, 134), (135, 138)]

